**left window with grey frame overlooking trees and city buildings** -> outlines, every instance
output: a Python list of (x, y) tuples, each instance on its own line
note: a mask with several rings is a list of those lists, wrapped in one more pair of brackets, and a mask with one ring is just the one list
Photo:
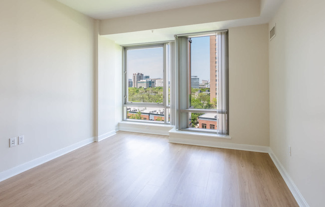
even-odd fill
[(124, 47), (124, 119), (169, 123), (169, 45)]

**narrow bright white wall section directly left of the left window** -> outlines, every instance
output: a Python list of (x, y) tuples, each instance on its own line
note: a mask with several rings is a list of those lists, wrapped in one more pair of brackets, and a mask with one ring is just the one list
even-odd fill
[(115, 133), (122, 120), (122, 47), (98, 36), (99, 139)]

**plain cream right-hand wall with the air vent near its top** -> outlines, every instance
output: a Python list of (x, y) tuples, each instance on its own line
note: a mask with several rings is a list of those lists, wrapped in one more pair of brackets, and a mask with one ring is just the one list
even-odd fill
[(311, 207), (325, 204), (324, 19), (324, 0), (286, 0), (270, 22), (270, 146)]

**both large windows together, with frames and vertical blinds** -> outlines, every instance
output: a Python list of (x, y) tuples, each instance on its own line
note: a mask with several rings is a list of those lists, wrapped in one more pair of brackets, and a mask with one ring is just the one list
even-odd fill
[(228, 31), (175, 37), (124, 47), (124, 120), (229, 134)]

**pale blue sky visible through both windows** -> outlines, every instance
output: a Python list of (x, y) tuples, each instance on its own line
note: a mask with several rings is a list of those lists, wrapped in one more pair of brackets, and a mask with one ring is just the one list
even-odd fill
[[(210, 79), (210, 38), (195, 37), (191, 44), (191, 75)], [(133, 73), (163, 78), (163, 48), (128, 50), (128, 79)]]

